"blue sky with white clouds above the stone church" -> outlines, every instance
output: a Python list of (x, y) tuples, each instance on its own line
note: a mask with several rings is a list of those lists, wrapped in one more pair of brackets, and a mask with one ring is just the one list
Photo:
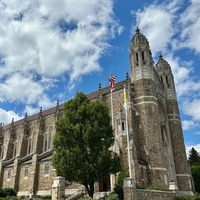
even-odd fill
[(138, 26), (172, 67), (186, 148), (200, 151), (199, 0), (1, 0), (0, 19), (0, 122), (125, 79)]

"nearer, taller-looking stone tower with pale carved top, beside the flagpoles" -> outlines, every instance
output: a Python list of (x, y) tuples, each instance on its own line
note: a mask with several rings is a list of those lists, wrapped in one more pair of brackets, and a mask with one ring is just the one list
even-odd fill
[(168, 185), (167, 168), (163, 158), (157, 84), (158, 78), (146, 37), (137, 28), (130, 44), (131, 87), (133, 104), (139, 114), (135, 123), (140, 126), (136, 132), (138, 160), (147, 163), (148, 185)]

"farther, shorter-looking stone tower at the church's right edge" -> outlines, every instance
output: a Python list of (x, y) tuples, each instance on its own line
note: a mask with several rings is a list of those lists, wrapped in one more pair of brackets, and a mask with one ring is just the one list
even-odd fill
[(167, 123), (170, 132), (175, 174), (178, 189), (187, 194), (192, 193), (191, 177), (186, 157), (182, 125), (176, 97), (174, 77), (169, 63), (162, 55), (156, 64), (156, 72), (163, 83), (167, 111)]

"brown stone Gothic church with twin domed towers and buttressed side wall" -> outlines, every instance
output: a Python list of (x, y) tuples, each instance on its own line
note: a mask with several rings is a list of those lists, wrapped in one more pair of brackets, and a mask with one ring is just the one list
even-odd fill
[[(180, 193), (192, 194), (194, 188), (171, 67), (162, 55), (154, 65), (149, 42), (138, 28), (130, 42), (129, 56), (130, 75), (127, 73), (125, 80), (115, 84), (112, 96), (110, 87), (102, 88), (101, 84), (87, 96), (105, 102), (109, 108), (112, 98), (114, 149), (121, 158), (122, 168), (131, 171), (137, 185), (144, 188), (164, 185), (169, 189), (173, 185)], [(35, 195), (51, 195), (57, 176), (51, 165), (52, 139), (63, 108), (57, 102), (48, 110), (41, 108), (35, 115), (0, 124), (0, 187), (14, 188), (18, 196), (27, 195), (30, 190)], [(112, 179), (108, 183), (110, 189), (114, 184)], [(96, 191), (105, 189), (104, 185), (96, 183)], [(79, 184), (73, 183), (66, 186), (66, 191), (78, 187)]]

